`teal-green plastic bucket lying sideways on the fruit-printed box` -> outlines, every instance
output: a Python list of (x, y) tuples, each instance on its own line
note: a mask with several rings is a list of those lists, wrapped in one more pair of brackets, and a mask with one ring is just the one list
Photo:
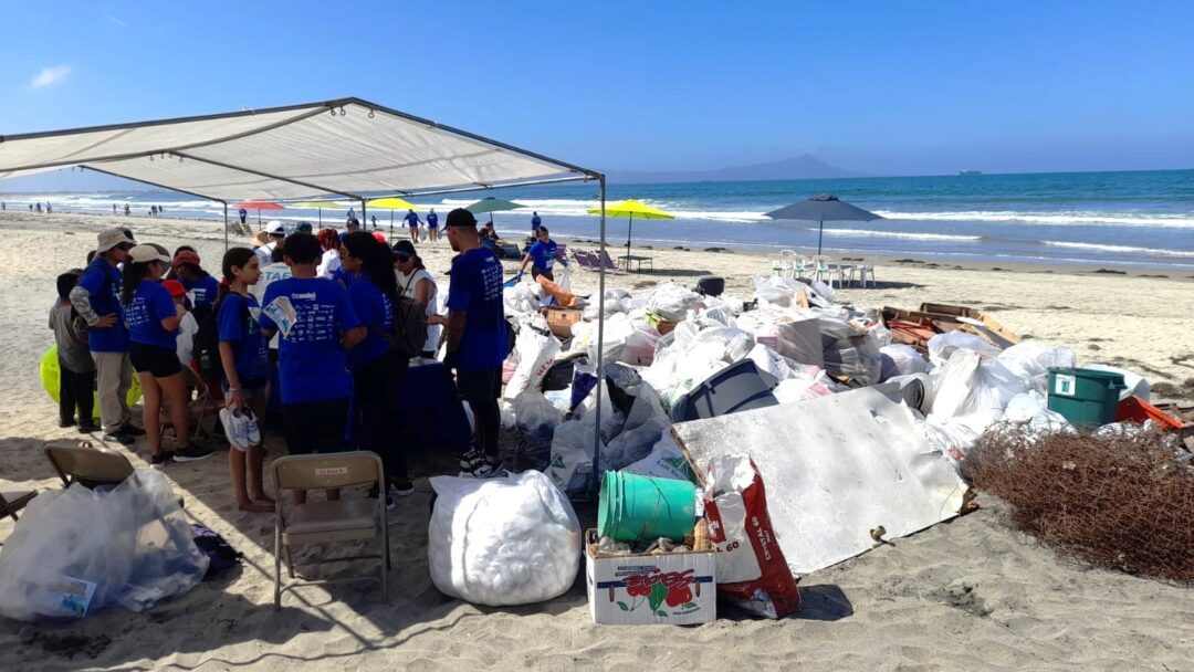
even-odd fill
[(681, 541), (696, 524), (696, 487), (689, 481), (605, 471), (597, 534), (620, 542)]

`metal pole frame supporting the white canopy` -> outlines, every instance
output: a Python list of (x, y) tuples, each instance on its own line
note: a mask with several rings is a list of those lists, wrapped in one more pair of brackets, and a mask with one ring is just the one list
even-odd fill
[[(176, 192), (179, 192), (179, 193), (186, 193), (187, 196), (193, 196), (196, 198), (203, 198), (203, 199), (207, 199), (207, 201), (213, 201), (213, 202), (216, 202), (216, 203), (221, 203), (223, 205), (223, 220), (224, 220), (224, 249), (227, 249), (228, 248), (228, 202), (226, 199), (223, 199), (223, 198), (215, 198), (215, 197), (211, 197), (211, 196), (208, 196), (208, 195), (203, 195), (203, 193), (197, 193), (197, 192), (193, 192), (193, 191), (187, 191), (187, 190), (181, 190), (181, 189), (172, 187), (172, 186), (166, 185), (166, 184), (156, 184), (156, 183), (147, 181), (147, 180), (143, 180), (143, 179), (128, 178), (128, 177), (122, 175), (122, 174), (119, 174), (117, 172), (106, 171), (104, 168), (97, 168), (97, 167), (94, 167), (92, 165), (92, 162), (98, 164), (98, 165), (103, 165), (105, 161), (125, 160), (125, 159), (137, 159), (137, 158), (144, 158), (144, 156), (154, 156), (154, 155), (159, 155), (159, 154), (161, 154), (164, 156), (171, 156), (171, 155), (172, 156), (177, 156), (177, 158), (179, 158), (179, 160), (205, 162), (205, 164), (215, 165), (215, 166), (223, 167), (223, 168), (227, 168), (227, 169), (241, 171), (241, 172), (254, 174), (254, 175), (258, 175), (258, 177), (264, 177), (264, 178), (267, 178), (267, 179), (275, 179), (275, 180), (278, 180), (278, 181), (284, 181), (284, 183), (294, 184), (294, 185), (302, 186), (302, 187), (306, 187), (306, 189), (310, 189), (310, 190), (314, 190), (314, 193), (310, 195), (312, 197), (320, 197), (320, 196), (327, 196), (327, 195), (337, 195), (337, 196), (346, 197), (346, 198), (350, 198), (350, 199), (353, 199), (353, 201), (361, 201), (361, 217), (362, 217), (362, 222), (368, 222), (367, 214), (365, 214), (365, 201), (367, 201), (367, 197), (363, 196), (363, 195), (345, 193), (343, 191), (338, 191), (338, 190), (334, 190), (334, 189), (328, 189), (328, 187), (318, 185), (315, 183), (309, 183), (309, 181), (306, 181), (306, 180), (296, 180), (296, 179), (293, 179), (293, 178), (283, 178), (283, 177), (279, 177), (279, 175), (271, 175), (271, 174), (263, 173), (260, 171), (256, 171), (253, 168), (247, 168), (247, 167), (242, 167), (242, 166), (235, 166), (235, 165), (230, 165), (230, 164), (223, 164), (223, 162), (220, 162), (220, 161), (213, 161), (213, 160), (208, 160), (208, 159), (201, 159), (201, 158), (195, 156), (195, 155), (192, 155), (192, 154), (189, 153), (190, 149), (195, 149), (195, 148), (199, 148), (199, 147), (205, 147), (205, 146), (209, 146), (209, 144), (217, 144), (217, 143), (222, 143), (222, 142), (230, 142), (230, 141), (235, 141), (235, 140), (239, 140), (239, 138), (242, 138), (242, 137), (248, 137), (248, 136), (252, 136), (252, 135), (265, 132), (267, 130), (273, 130), (273, 129), (277, 129), (277, 128), (281, 128), (281, 127), (285, 127), (288, 124), (291, 124), (291, 123), (295, 123), (295, 122), (298, 122), (298, 121), (302, 121), (302, 119), (307, 119), (307, 118), (314, 117), (316, 115), (321, 115), (321, 113), (336, 115), (337, 113), (337, 109), (340, 110), (340, 113), (344, 113), (343, 112), (344, 105), (350, 105), (350, 104), (358, 105), (358, 106), (362, 106), (362, 107), (367, 107), (369, 110), (370, 117), (374, 113), (378, 113), (378, 112), (383, 113), (383, 115), (390, 115), (390, 116), (394, 116), (394, 117), (398, 117), (398, 118), (401, 118), (401, 119), (406, 119), (408, 122), (414, 122), (414, 123), (418, 123), (418, 124), (426, 125), (430, 129), (437, 129), (439, 131), (444, 131), (444, 132), (448, 132), (448, 134), (451, 134), (451, 135), (456, 135), (456, 136), (460, 136), (460, 137), (463, 137), (463, 138), (467, 138), (467, 140), (473, 140), (473, 141), (476, 141), (476, 142), (481, 142), (481, 143), (488, 144), (488, 146), (491, 146), (493, 148), (497, 148), (500, 152), (510, 152), (510, 153), (519, 154), (519, 155), (525, 156), (525, 158), (535, 159), (535, 160), (542, 161), (544, 164), (549, 164), (549, 165), (556, 166), (556, 167), (559, 167), (559, 168), (562, 169), (561, 172), (572, 172), (572, 173), (574, 173), (572, 175), (566, 175), (566, 177), (552, 177), (552, 178), (543, 178), (543, 179), (528, 179), (528, 180), (519, 180), (519, 181), (515, 181), (515, 183), (480, 184), (480, 183), (473, 181), (472, 185), (474, 185), (474, 186), (455, 186), (455, 187), (450, 187), (450, 189), (430, 189), (430, 190), (418, 190), (418, 189), (416, 189), (416, 190), (406, 190), (406, 191), (404, 191), (404, 190), (396, 190), (395, 193), (399, 195), (399, 196), (402, 196), (402, 197), (418, 198), (418, 197), (423, 197), (423, 196), (437, 196), (437, 195), (460, 193), (460, 192), (468, 192), (468, 191), (492, 191), (492, 190), (498, 190), (498, 189), (515, 189), (515, 187), (521, 187), (521, 186), (535, 186), (535, 185), (560, 184), (560, 183), (570, 183), (570, 181), (592, 181), (592, 180), (597, 180), (597, 183), (599, 185), (599, 199), (601, 199), (601, 222), (599, 222), (599, 228), (601, 228), (601, 251), (602, 251), (603, 254), (605, 253), (605, 248), (607, 248), (605, 247), (605, 186), (607, 186), (607, 184), (605, 184), (605, 174), (604, 173), (601, 173), (601, 172), (597, 172), (597, 171), (592, 171), (592, 169), (589, 169), (589, 168), (583, 168), (583, 167), (577, 166), (574, 164), (568, 164), (568, 162), (565, 162), (565, 161), (559, 161), (556, 159), (552, 159), (552, 158), (546, 156), (543, 154), (530, 152), (528, 149), (523, 149), (523, 148), (516, 147), (513, 144), (507, 144), (505, 142), (499, 142), (499, 141), (496, 141), (496, 140), (492, 140), (492, 138), (488, 138), (488, 137), (485, 137), (485, 136), (481, 136), (481, 135), (476, 135), (476, 134), (473, 134), (473, 132), (469, 132), (469, 131), (466, 131), (466, 130), (462, 130), (462, 129), (457, 129), (457, 128), (449, 127), (449, 125), (445, 125), (445, 124), (439, 124), (439, 123), (433, 122), (431, 119), (426, 119), (426, 118), (423, 118), (423, 117), (417, 117), (414, 115), (408, 115), (406, 112), (401, 112), (399, 110), (394, 110), (393, 107), (387, 107), (384, 105), (377, 105), (375, 103), (370, 103), (368, 100), (364, 100), (362, 98), (356, 98), (356, 97), (337, 98), (337, 99), (327, 100), (327, 101), (324, 101), (324, 103), (307, 103), (307, 104), (298, 104), (298, 105), (285, 105), (285, 106), (278, 106), (278, 107), (266, 107), (266, 109), (261, 109), (261, 110), (242, 110), (242, 111), (239, 111), (239, 112), (223, 112), (223, 113), (214, 113), (214, 115), (198, 115), (198, 116), (190, 116), (190, 117), (174, 117), (174, 118), (166, 118), (166, 119), (152, 119), (152, 121), (147, 121), (147, 122), (133, 122), (133, 123), (121, 123), (121, 124), (106, 124), (106, 125), (82, 127), (82, 128), (59, 130), (59, 131), (35, 131), (35, 132), (25, 132), (25, 134), (0, 135), (0, 144), (2, 144), (5, 142), (16, 141), (16, 140), (33, 140), (33, 138), (44, 138), (44, 137), (62, 137), (62, 136), (69, 136), (69, 135), (80, 135), (80, 134), (85, 134), (85, 132), (127, 130), (127, 129), (133, 129), (133, 128), (146, 128), (146, 127), (156, 127), (156, 125), (166, 125), (166, 124), (176, 124), (176, 123), (187, 123), (187, 122), (202, 122), (202, 121), (211, 121), (211, 119), (228, 119), (228, 118), (236, 118), (236, 117), (245, 117), (245, 116), (256, 116), (256, 115), (260, 115), (260, 113), (277, 113), (277, 112), (287, 112), (287, 111), (307, 110), (308, 113), (306, 113), (306, 115), (297, 115), (294, 118), (281, 119), (277, 123), (269, 124), (269, 125), (259, 128), (259, 129), (253, 129), (253, 130), (250, 130), (250, 131), (242, 131), (242, 132), (233, 134), (233, 135), (229, 135), (229, 136), (226, 136), (226, 137), (220, 137), (220, 138), (215, 138), (215, 140), (208, 140), (208, 141), (203, 141), (203, 142), (196, 142), (196, 143), (190, 143), (190, 144), (180, 144), (178, 147), (171, 147), (171, 148), (159, 148), (159, 149), (155, 149), (153, 152), (137, 152), (137, 153), (128, 153), (128, 154), (123, 154), (123, 155), (112, 155), (112, 156), (105, 156), (103, 159), (92, 159), (92, 160), (84, 160), (84, 161), (59, 160), (59, 161), (50, 161), (50, 162), (45, 162), (45, 164), (38, 164), (38, 165), (33, 165), (33, 166), (17, 166), (17, 167), (13, 167), (13, 168), (8, 168), (8, 171), (11, 171), (11, 172), (18, 172), (18, 171), (35, 169), (35, 168), (57, 168), (57, 167), (67, 167), (67, 166), (81, 166), (85, 169), (92, 169), (92, 171), (96, 171), (98, 173), (103, 173), (103, 174), (107, 174), (107, 175), (113, 175), (113, 177), (119, 177), (119, 178), (124, 178), (124, 179), (130, 179), (133, 181), (139, 181), (141, 184), (146, 184), (146, 185), (149, 185), (149, 186), (155, 186), (155, 187), (159, 187), (159, 189), (166, 189), (166, 190), (176, 191)], [(604, 266), (604, 264), (602, 264), (602, 266), (599, 269), (598, 300), (597, 301), (598, 301), (598, 315), (604, 316), (604, 314), (605, 314), (605, 266)], [(597, 321), (597, 377), (598, 377), (598, 383), (597, 384), (598, 386), (604, 384), (604, 381), (603, 381), (604, 374), (602, 372), (603, 366), (604, 366), (604, 358), (603, 358), (604, 340), (605, 340), (605, 323), (604, 323), (604, 320), (598, 320)], [(592, 461), (593, 489), (592, 489), (592, 494), (591, 494), (591, 497), (593, 497), (593, 499), (597, 498), (597, 492), (599, 489), (599, 482), (597, 481), (597, 474), (599, 473), (601, 445), (602, 445), (602, 442), (601, 442), (601, 419), (602, 419), (602, 411), (603, 411), (603, 408), (602, 408), (602, 400), (601, 400), (601, 397), (602, 397), (601, 389), (598, 387), (598, 389), (597, 389), (597, 406), (595, 408), (595, 414), (596, 414), (595, 419), (596, 419), (597, 423), (595, 425), (595, 431), (593, 431), (593, 461)]]

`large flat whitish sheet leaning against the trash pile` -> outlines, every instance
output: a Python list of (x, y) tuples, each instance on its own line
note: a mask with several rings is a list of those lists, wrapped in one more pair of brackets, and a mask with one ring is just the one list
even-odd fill
[(792, 571), (869, 550), (958, 514), (966, 485), (916, 431), (912, 414), (863, 388), (672, 426), (701, 471), (710, 457), (755, 458)]

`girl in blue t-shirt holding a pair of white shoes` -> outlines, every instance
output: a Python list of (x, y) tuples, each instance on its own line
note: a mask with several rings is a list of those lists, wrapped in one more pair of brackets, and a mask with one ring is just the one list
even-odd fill
[(224, 252), (224, 285), (216, 301), (216, 332), (220, 338), (220, 364), (223, 366), (221, 386), (224, 406), (230, 409), (248, 407), (258, 418), (256, 444), (240, 450), (235, 443), (228, 450), (236, 507), (241, 511), (273, 511), (273, 500), (265, 494), (261, 474), (265, 469), (265, 431), (263, 419), (270, 401), (270, 355), (267, 340), (257, 322), (260, 308), (248, 288), (261, 277), (261, 261), (247, 247)]

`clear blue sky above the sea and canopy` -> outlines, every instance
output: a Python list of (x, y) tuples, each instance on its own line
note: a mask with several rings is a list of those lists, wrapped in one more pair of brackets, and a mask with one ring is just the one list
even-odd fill
[(1194, 2), (4, 4), (0, 134), (340, 95), (603, 169), (1194, 167)]

